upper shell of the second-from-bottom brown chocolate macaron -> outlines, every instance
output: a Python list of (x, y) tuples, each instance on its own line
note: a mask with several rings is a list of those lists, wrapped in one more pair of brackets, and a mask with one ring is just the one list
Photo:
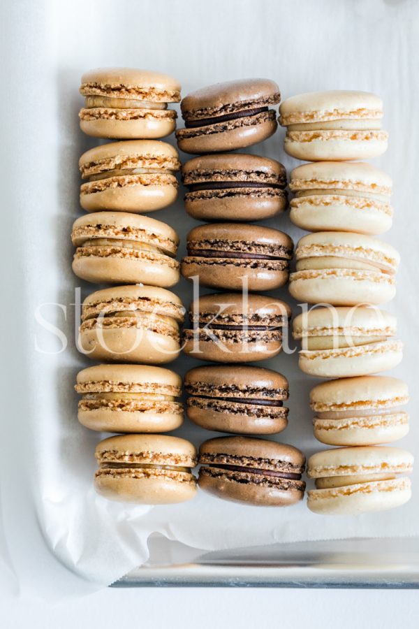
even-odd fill
[(285, 376), (261, 367), (242, 365), (195, 367), (185, 374), (184, 386), (191, 395), (214, 398), (288, 399)]

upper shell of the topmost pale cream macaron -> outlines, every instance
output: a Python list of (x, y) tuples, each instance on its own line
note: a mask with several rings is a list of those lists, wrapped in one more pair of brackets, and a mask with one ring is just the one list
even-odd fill
[(283, 126), (331, 120), (379, 120), (383, 116), (383, 101), (370, 92), (343, 89), (307, 92), (283, 101), (279, 113)]

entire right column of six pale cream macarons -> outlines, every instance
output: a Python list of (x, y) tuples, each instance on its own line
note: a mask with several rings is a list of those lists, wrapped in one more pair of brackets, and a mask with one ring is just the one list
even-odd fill
[[(358, 514), (402, 505), (411, 496), (413, 456), (384, 447), (409, 431), (399, 379), (373, 375), (402, 360), (396, 318), (376, 306), (395, 296), (399, 254), (375, 238), (392, 225), (388, 175), (364, 163), (387, 148), (383, 103), (367, 92), (293, 96), (280, 108), (284, 148), (311, 163), (291, 172), (291, 220), (313, 233), (297, 244), (290, 293), (303, 308), (293, 322), (304, 373), (334, 378), (310, 393), (314, 436), (339, 446), (309, 458), (316, 479), (309, 509)], [(320, 307), (318, 307), (320, 305)]]

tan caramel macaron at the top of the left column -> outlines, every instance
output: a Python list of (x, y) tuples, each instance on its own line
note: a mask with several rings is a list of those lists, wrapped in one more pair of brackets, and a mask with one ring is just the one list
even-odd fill
[(134, 68), (98, 68), (82, 75), (80, 129), (95, 138), (163, 138), (175, 131), (180, 85), (171, 76)]

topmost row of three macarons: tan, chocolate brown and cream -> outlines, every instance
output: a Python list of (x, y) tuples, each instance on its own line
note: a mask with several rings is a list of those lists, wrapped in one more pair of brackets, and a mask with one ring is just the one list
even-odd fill
[[(155, 139), (175, 131), (181, 86), (161, 73), (133, 68), (100, 68), (82, 76), (80, 127), (98, 138)], [(277, 130), (281, 101), (276, 82), (244, 79), (191, 92), (180, 109), (179, 149), (193, 154), (240, 150)], [(369, 159), (382, 154), (388, 133), (381, 130), (383, 103), (375, 94), (336, 90), (292, 96), (279, 107), (286, 127), (285, 150), (307, 161)]]

